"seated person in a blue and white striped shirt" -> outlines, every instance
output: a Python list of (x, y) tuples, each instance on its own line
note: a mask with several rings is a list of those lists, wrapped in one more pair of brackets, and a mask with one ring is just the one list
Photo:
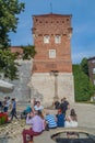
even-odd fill
[(55, 129), (57, 128), (57, 118), (54, 114), (50, 114), (49, 112), (46, 113), (45, 116), (45, 120), (46, 120), (46, 130), (49, 129)]

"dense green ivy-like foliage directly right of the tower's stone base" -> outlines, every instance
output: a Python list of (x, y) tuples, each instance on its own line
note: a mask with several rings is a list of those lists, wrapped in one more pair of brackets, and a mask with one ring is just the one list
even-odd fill
[(87, 101), (94, 94), (93, 84), (88, 76), (82, 72), (80, 65), (73, 65), (75, 101)]

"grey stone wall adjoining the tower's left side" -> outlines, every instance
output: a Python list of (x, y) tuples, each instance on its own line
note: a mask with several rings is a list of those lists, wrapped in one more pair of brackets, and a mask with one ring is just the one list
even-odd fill
[(10, 81), (14, 85), (13, 92), (0, 92), (1, 97), (10, 96), (15, 97), (17, 101), (27, 102), (31, 100), (31, 89), (28, 87), (28, 81), (32, 76), (32, 61), (17, 61), (19, 66), (19, 79)]

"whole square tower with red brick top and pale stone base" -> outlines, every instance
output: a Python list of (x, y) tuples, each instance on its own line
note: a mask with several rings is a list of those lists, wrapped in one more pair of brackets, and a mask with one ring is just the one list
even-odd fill
[(74, 101), (70, 38), (72, 15), (33, 15), (37, 54), (33, 59), (32, 98), (51, 103), (67, 97)]

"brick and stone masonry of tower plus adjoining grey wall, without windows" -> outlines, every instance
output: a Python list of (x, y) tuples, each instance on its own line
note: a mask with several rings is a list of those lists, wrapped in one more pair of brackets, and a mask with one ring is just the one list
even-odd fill
[[(9, 94), (19, 101), (29, 101), (39, 98), (45, 106), (51, 105), (58, 96), (60, 100), (67, 97), (74, 101), (70, 36), (72, 33), (71, 15), (45, 14), (33, 15), (33, 36), (36, 56), (33, 61), (22, 61), (19, 68), (19, 80), (14, 80), (14, 91)], [(49, 43), (44, 43), (44, 36), (49, 35)], [(55, 36), (60, 35), (61, 42), (55, 43)], [(56, 57), (49, 57), (49, 51), (56, 50)], [(20, 46), (11, 51), (23, 53)]]

